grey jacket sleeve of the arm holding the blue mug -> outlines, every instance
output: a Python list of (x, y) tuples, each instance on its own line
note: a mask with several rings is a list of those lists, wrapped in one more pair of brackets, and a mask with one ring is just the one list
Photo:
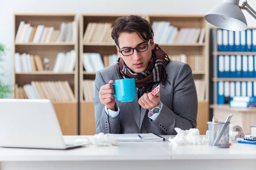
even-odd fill
[[(99, 90), (102, 85), (105, 85), (102, 74), (97, 71), (95, 78), (95, 91), (94, 91), (94, 111), (96, 121), (96, 133), (120, 133), (119, 116), (115, 119), (109, 117), (105, 112), (104, 105), (99, 100)], [(117, 105), (115, 106), (117, 108)]]

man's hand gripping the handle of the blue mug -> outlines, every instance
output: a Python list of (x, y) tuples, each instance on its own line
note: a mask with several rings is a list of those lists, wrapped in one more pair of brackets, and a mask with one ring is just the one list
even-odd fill
[(107, 109), (111, 109), (112, 111), (115, 111), (115, 96), (112, 94), (115, 92), (113, 84), (114, 81), (110, 80), (108, 84), (102, 85), (100, 90), (99, 90), (99, 99), (100, 102), (103, 105), (106, 105)]

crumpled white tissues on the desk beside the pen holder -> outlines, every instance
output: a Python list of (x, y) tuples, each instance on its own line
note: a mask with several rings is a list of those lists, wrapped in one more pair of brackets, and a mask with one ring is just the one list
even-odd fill
[(199, 130), (191, 128), (189, 130), (181, 130), (178, 127), (174, 128), (177, 135), (168, 140), (174, 145), (189, 145), (189, 144), (208, 144), (208, 138), (200, 136)]

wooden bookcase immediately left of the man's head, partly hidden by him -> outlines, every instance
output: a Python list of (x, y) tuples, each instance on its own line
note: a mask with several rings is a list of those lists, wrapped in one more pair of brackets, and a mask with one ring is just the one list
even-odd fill
[[(95, 72), (86, 72), (83, 66), (84, 53), (99, 53), (101, 57), (104, 55), (116, 54), (116, 45), (114, 42), (84, 42), (84, 33), (88, 23), (113, 23), (122, 14), (81, 14), (80, 16), (80, 31), (79, 31), (79, 100), (80, 100), (80, 115), (79, 115), (79, 128), (80, 135), (94, 135), (96, 134), (95, 114), (93, 101), (84, 100), (84, 80), (94, 80)], [(109, 34), (110, 36), (110, 34)], [(88, 87), (91, 88), (91, 87)], [(93, 91), (94, 92), (94, 91)]]

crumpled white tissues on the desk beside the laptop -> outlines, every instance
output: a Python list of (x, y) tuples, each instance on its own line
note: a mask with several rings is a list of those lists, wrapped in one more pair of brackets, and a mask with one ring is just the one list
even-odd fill
[(109, 133), (99, 133), (94, 136), (83, 136), (83, 139), (76, 139), (76, 143), (85, 142), (96, 146), (113, 146), (117, 145), (118, 140)]

